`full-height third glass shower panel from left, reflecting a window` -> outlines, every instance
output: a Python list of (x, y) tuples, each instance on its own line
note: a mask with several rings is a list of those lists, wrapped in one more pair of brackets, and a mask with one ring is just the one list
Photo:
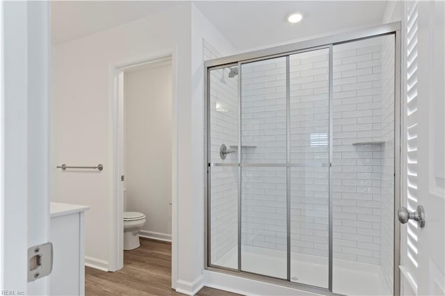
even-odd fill
[(291, 281), (328, 288), (329, 49), (289, 63)]

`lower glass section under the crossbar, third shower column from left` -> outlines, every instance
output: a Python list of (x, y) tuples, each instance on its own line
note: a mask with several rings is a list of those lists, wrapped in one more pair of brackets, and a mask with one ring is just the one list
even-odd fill
[(291, 167), (291, 281), (328, 288), (329, 169)]

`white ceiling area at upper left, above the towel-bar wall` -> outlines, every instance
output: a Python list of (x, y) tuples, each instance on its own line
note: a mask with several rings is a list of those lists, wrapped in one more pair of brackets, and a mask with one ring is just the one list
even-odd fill
[(176, 1), (51, 1), (51, 43), (60, 44), (154, 15)]

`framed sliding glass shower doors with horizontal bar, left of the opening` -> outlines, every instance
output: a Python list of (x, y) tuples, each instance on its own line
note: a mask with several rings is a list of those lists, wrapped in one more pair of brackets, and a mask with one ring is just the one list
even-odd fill
[(212, 264), (327, 288), (329, 50), (210, 71)]

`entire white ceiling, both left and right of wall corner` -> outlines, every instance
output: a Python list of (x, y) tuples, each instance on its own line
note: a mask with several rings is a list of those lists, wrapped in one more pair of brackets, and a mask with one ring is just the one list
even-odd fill
[[(51, 43), (60, 44), (154, 15), (177, 1), (51, 1)], [(195, 1), (235, 49), (379, 24), (387, 1)], [(302, 13), (298, 24), (289, 13)]]

